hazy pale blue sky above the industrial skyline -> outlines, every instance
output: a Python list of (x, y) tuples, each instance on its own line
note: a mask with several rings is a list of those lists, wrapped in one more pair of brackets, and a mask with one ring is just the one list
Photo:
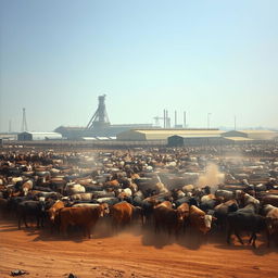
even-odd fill
[(278, 128), (278, 1), (0, 0), (0, 131), (187, 111), (189, 127)]

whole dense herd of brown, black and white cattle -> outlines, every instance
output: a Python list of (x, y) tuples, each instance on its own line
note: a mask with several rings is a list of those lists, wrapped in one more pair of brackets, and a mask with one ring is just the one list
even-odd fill
[[(213, 167), (210, 172), (210, 165)], [(190, 227), (207, 233), (266, 232), (278, 244), (278, 157), (224, 157), (192, 149), (112, 152), (3, 152), (0, 211), (22, 222), (47, 220), (66, 236), (81, 227), (90, 238), (100, 217), (118, 230), (137, 222), (178, 236)]]

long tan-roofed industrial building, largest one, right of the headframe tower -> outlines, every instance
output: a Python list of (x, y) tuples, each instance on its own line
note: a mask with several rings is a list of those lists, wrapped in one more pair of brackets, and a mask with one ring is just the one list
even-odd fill
[(170, 136), (184, 137), (219, 137), (224, 131), (219, 129), (132, 129), (118, 134), (117, 140), (122, 141), (149, 141), (164, 140)]

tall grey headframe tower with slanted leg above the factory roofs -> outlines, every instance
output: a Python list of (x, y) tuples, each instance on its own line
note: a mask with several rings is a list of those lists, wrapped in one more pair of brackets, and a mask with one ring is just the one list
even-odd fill
[(109, 115), (105, 108), (106, 94), (99, 96), (99, 106), (88, 123), (86, 129), (104, 128), (110, 125)]

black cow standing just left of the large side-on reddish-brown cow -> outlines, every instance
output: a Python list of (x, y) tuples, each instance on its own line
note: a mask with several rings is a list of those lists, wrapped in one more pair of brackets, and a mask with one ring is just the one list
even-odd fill
[(46, 218), (46, 203), (41, 201), (23, 201), (17, 205), (18, 229), (21, 229), (21, 220), (24, 220), (25, 227), (28, 228), (26, 217), (35, 216), (37, 219), (37, 228), (39, 225), (43, 227)]

